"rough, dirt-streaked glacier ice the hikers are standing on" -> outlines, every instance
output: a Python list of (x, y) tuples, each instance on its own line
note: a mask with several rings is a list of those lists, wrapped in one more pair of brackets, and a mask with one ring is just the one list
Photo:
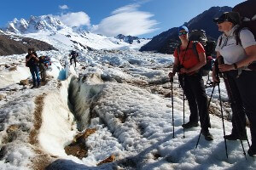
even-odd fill
[[(51, 56), (53, 63), (47, 71), (48, 82), (41, 88), (17, 84), (16, 78), (1, 86), (0, 169), (255, 168), (252, 157), (245, 160), (240, 141), (227, 142), (229, 159), (225, 157), (222, 120), (217, 116), (218, 89), (211, 102), (215, 115), (211, 115), (210, 132), (214, 140), (201, 137), (195, 149), (200, 127), (187, 129), (183, 139), (183, 92), (177, 77), (173, 83), (174, 124), (172, 99), (168, 97), (171, 84), (167, 75), (172, 56), (135, 50), (88, 51), (79, 56), (77, 68), (70, 65), (72, 74), (63, 79), (68, 50), (62, 49), (38, 52)], [(0, 63), (6, 58), (0, 57)], [(20, 65), (22, 58), (23, 55), (8, 56), (8, 63)], [(20, 68), (28, 71), (24, 65)], [(8, 71), (2, 66), (0, 75), (5, 77)], [(12, 74), (17, 73), (9, 71)], [(208, 96), (211, 92), (212, 88), (207, 88)], [(224, 115), (228, 117), (230, 106), (224, 83), (221, 94)], [(188, 121), (186, 102), (185, 122)], [(226, 133), (230, 133), (231, 122), (224, 123)], [(96, 128), (96, 132), (84, 139), (86, 156), (79, 159), (67, 155), (65, 146), (73, 142), (76, 133), (89, 128)], [(248, 129), (247, 134), (250, 137)], [(247, 151), (247, 143), (243, 143)], [(97, 165), (111, 155), (115, 161)]]

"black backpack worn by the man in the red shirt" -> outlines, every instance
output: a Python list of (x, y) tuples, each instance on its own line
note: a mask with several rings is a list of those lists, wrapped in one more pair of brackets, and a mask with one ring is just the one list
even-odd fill
[[(189, 33), (189, 41), (193, 41), (192, 48), (194, 53), (199, 59), (199, 54), (196, 50), (196, 44), (198, 42), (201, 42), (202, 46), (206, 50), (206, 58), (207, 58), (207, 64), (201, 67), (202, 76), (208, 76), (209, 72), (212, 71), (212, 66), (214, 63), (214, 60), (212, 59), (212, 54), (214, 53), (214, 49), (216, 47), (216, 42), (210, 42), (207, 41), (207, 34), (204, 30), (193, 30)], [(177, 47), (177, 54), (179, 54), (180, 45)]]

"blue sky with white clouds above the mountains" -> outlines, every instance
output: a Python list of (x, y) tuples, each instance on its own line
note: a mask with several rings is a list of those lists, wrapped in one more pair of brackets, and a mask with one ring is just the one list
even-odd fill
[(154, 37), (213, 6), (244, 0), (1, 0), (0, 26), (17, 18), (52, 14), (69, 26), (115, 36)]

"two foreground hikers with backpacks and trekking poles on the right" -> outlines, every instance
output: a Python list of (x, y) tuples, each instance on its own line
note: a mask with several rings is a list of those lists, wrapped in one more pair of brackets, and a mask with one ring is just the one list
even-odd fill
[[(245, 7), (247, 9), (244, 9)], [(255, 7), (256, 3), (253, 0), (248, 0), (236, 5), (232, 12), (225, 12), (220, 17), (213, 19), (218, 26), (218, 31), (223, 32), (223, 34), (218, 37), (215, 48), (217, 57), (212, 67), (212, 93), (215, 86), (218, 86), (221, 105), (219, 82), (220, 77), (223, 77), (233, 113), (231, 119), (232, 131), (229, 135), (225, 135), (224, 131), (227, 157), (226, 140), (237, 139), (241, 141), (241, 145), (242, 140), (247, 140), (249, 145), (247, 154), (249, 156), (256, 156)], [(253, 8), (251, 11), (253, 14), (248, 14), (250, 8)], [(188, 99), (190, 110), (189, 122), (184, 123), (183, 119), (182, 127), (183, 129), (198, 127), (198, 122), (200, 122), (200, 134), (204, 135), (206, 140), (213, 140), (213, 136), (209, 131), (209, 127), (211, 127), (208, 112), (210, 101), (207, 103), (206, 87), (202, 79), (202, 68), (207, 63), (205, 48), (200, 41), (190, 40), (189, 29), (186, 26), (178, 28), (178, 37), (181, 40), (181, 44), (174, 51), (174, 64), (169, 77), (171, 82), (173, 82), (173, 77), (176, 73), (178, 74), (178, 81), (183, 88), (183, 99), (184, 95)], [(196, 53), (193, 48), (196, 48)], [(223, 118), (222, 105), (221, 112)], [(251, 145), (247, 139), (246, 116), (251, 131)], [(244, 155), (246, 155), (245, 151)]]

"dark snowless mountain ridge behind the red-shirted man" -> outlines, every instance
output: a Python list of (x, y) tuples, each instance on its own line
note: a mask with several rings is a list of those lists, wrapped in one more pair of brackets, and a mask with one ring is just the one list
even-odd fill
[[(231, 10), (232, 8), (227, 6), (209, 8), (203, 13), (195, 16), (193, 19), (189, 20), (189, 22), (185, 22), (184, 26), (188, 26), (189, 31), (205, 30), (208, 40), (216, 41), (221, 32), (218, 31), (218, 28), (212, 19), (218, 17), (224, 12)], [(174, 49), (177, 48), (179, 43), (180, 41), (177, 37), (177, 27), (173, 27), (153, 37), (150, 42), (140, 48), (140, 51), (154, 51), (162, 54), (173, 54)]]

